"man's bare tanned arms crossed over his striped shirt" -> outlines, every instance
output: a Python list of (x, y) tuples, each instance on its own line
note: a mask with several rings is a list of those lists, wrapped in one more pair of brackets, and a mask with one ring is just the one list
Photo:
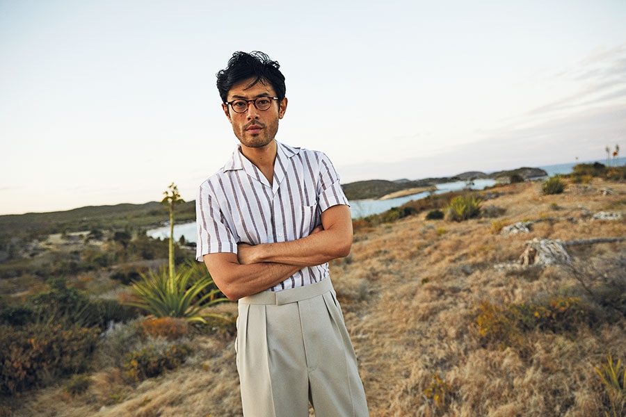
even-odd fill
[(353, 236), (350, 208), (328, 208), (321, 223), (304, 238), (254, 246), (241, 243), (238, 254), (206, 254), (204, 263), (224, 295), (239, 300), (280, 284), (305, 266), (348, 256)]

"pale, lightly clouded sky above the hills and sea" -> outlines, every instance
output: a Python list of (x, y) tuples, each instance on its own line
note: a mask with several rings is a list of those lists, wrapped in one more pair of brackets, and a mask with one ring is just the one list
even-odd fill
[(277, 140), (342, 183), (626, 153), (624, 0), (0, 0), (0, 215), (195, 199), (237, 143), (215, 74), (255, 50)]

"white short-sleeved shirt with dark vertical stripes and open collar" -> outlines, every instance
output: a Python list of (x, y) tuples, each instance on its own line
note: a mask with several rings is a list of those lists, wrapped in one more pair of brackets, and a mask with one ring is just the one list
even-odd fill
[[(308, 236), (321, 224), (321, 213), (348, 205), (339, 176), (322, 152), (277, 142), (270, 185), (262, 172), (241, 154), (200, 185), (196, 202), (196, 257), (237, 253), (237, 243), (259, 245)], [(305, 267), (268, 291), (297, 288), (328, 278), (328, 263)]]

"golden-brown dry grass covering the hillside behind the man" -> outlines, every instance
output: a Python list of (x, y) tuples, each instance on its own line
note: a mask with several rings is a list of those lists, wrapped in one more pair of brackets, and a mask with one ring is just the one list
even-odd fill
[[(612, 195), (598, 190), (609, 186)], [(493, 304), (534, 302), (581, 292), (559, 265), (497, 268), (517, 263), (533, 237), (581, 240), (626, 236), (625, 220), (597, 221), (586, 210), (626, 212), (626, 183), (594, 180), (562, 195), (541, 195), (537, 183), (492, 190), (506, 211), (497, 219), (454, 223), (425, 213), (355, 232), (348, 258), (331, 263), (357, 352), (371, 416), (595, 416), (609, 411), (594, 367), (626, 359), (626, 319), (577, 334), (529, 332), (524, 354), (481, 343), (474, 311)], [(584, 210), (585, 208), (586, 210)], [(530, 234), (501, 236), (492, 221), (539, 218)], [(626, 243), (570, 246), (578, 259), (625, 253)], [(222, 306), (234, 313), (234, 304)], [(115, 369), (93, 376), (88, 393), (71, 399), (60, 387), (24, 395), (14, 416), (240, 416), (232, 336), (195, 336), (195, 354), (174, 372), (132, 387)], [(436, 375), (434, 377), (433, 375)], [(440, 378), (440, 379), (437, 379)], [(428, 391), (431, 389), (431, 391)], [(443, 396), (429, 398), (429, 392)], [(604, 407), (604, 408), (603, 408)]]

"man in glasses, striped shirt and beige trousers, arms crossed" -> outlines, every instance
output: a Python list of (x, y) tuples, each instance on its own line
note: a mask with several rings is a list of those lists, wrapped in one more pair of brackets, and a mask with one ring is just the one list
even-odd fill
[(352, 343), (328, 274), (352, 219), (321, 152), (275, 140), (287, 110), (278, 62), (236, 52), (217, 74), (239, 139), (200, 186), (198, 261), (239, 300), (237, 370), (246, 417), (368, 416)]

